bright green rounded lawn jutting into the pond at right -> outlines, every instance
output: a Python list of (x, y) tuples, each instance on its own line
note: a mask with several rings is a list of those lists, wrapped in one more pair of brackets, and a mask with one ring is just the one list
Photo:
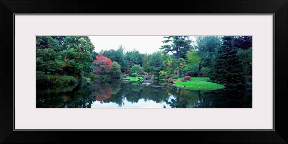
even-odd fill
[(188, 89), (188, 90), (217, 90), (217, 89), (224, 88), (223, 85), (206, 82), (206, 81), (205, 82), (203, 81), (179, 82), (177, 84), (174, 84), (174, 86), (178, 88)]

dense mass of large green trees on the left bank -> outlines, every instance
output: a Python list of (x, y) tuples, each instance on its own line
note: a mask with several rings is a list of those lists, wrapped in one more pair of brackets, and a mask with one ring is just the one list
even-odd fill
[(92, 72), (94, 46), (88, 36), (53, 37), (36, 37), (36, 70), (74, 77)]

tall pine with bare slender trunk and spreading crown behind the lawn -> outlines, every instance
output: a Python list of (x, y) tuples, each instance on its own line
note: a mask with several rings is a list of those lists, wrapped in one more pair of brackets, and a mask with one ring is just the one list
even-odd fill
[[(186, 58), (187, 51), (190, 51), (193, 48), (191, 45), (193, 41), (189, 39), (189, 36), (166, 36), (164, 38), (167, 38), (167, 40), (162, 42), (168, 44), (162, 46), (160, 50), (163, 50), (165, 54), (172, 52), (176, 57), (176, 60)], [(177, 62), (177, 65), (179, 69), (179, 76), (182, 77), (179, 61)]]

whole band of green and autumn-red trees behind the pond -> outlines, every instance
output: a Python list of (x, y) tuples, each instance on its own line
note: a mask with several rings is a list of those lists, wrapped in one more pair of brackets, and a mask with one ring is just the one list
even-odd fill
[[(88, 36), (37, 36), (36, 70), (103, 81), (129, 73), (179, 78), (210, 77), (211, 82), (237, 86), (252, 79), (251, 36), (166, 36), (152, 54), (136, 48), (96, 52)], [(170, 76), (168, 76), (170, 75)]]

